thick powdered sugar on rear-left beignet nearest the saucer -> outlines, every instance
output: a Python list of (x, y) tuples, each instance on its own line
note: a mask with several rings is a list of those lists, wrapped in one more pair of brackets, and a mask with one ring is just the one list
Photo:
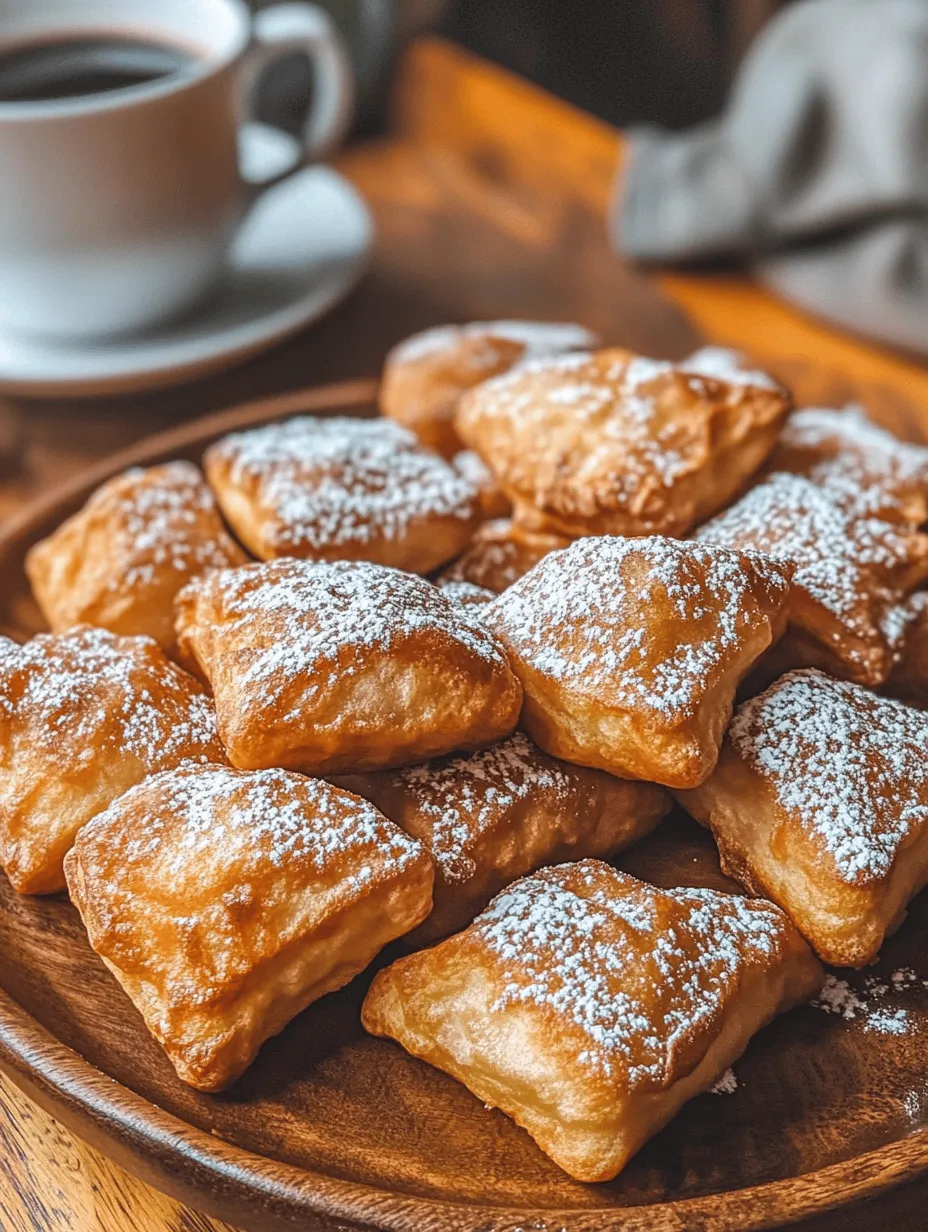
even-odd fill
[(280, 549), (325, 551), (386, 540), (436, 519), (470, 524), (479, 484), (391, 419), (302, 415), (227, 436), (210, 474), (254, 499)]

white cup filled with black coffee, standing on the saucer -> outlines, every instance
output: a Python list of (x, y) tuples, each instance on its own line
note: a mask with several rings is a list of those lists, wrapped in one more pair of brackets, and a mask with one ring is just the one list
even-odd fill
[[(240, 128), (295, 51), (314, 69), (302, 159), (249, 182)], [(312, 4), (0, 0), (0, 330), (92, 339), (190, 308), (256, 197), (338, 144), (352, 99)]]

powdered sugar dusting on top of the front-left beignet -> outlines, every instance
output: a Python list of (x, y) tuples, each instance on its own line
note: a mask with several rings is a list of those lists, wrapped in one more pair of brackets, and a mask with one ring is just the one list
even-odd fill
[[(145, 825), (124, 827), (136, 809), (145, 811)], [(168, 887), (217, 860), (248, 880), (301, 864), (339, 875), (355, 854), (365, 856), (349, 871), (360, 890), (421, 857), (421, 845), (372, 804), (320, 779), (224, 766), (168, 770), (133, 787), (86, 832), (89, 845), (111, 840), (128, 871), (140, 866), (150, 883)]]

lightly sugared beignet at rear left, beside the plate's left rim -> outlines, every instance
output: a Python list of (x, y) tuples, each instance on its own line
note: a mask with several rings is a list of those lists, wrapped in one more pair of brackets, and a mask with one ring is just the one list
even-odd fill
[(86, 623), (145, 633), (173, 654), (177, 591), (207, 569), (246, 559), (200, 471), (169, 462), (105, 483), (31, 549), (26, 572), (55, 632)]

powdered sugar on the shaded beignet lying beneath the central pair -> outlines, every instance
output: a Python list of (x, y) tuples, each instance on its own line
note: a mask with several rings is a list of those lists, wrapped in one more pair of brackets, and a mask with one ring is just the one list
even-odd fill
[(431, 827), (430, 850), (445, 881), (462, 882), (477, 871), (470, 849), (500, 814), (526, 800), (567, 798), (573, 774), (515, 732), (470, 756), (401, 770), (396, 781)]

